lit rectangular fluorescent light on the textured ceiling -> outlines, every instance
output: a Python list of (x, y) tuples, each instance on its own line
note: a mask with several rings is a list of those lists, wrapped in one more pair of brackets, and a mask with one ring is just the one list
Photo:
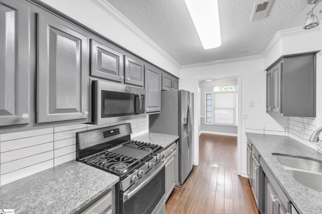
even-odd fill
[(221, 46), (217, 0), (185, 0), (204, 49)]

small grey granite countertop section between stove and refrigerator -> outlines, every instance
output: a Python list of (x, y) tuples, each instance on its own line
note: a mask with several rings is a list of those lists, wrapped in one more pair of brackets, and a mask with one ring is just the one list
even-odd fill
[(158, 134), (153, 132), (148, 132), (137, 137), (134, 137), (132, 140), (144, 141), (146, 143), (153, 143), (167, 148), (176, 140), (179, 139), (179, 136), (169, 135), (169, 134)]

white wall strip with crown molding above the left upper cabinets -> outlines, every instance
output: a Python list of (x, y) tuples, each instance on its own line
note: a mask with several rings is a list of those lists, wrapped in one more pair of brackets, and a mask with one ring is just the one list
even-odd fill
[(179, 77), (180, 65), (108, 3), (103, 11), (93, 0), (41, 0), (134, 54)]

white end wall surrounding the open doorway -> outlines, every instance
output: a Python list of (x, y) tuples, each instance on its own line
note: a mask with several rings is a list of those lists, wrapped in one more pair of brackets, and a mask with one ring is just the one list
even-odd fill
[[(197, 94), (196, 80), (215, 79), (222, 77), (235, 77), (240, 75), (241, 83), (238, 93), (241, 95), (241, 114), (247, 113), (248, 119), (241, 119), (238, 124), (241, 127), (238, 145), (241, 157), (237, 160), (238, 173), (246, 175), (246, 125), (265, 125), (270, 127), (287, 127), (287, 118), (273, 118), (266, 113), (266, 72), (264, 71), (264, 59), (254, 59), (241, 62), (214, 64), (203, 67), (183, 68), (180, 70), (180, 89), (192, 91)], [(249, 107), (249, 101), (254, 101), (254, 107)], [(195, 103), (195, 109), (199, 106)], [(195, 111), (198, 112), (198, 111)], [(239, 115), (241, 115), (239, 114)], [(195, 114), (195, 121), (200, 117)], [(197, 133), (195, 131), (195, 133)], [(196, 135), (196, 134), (195, 134)], [(198, 162), (198, 137), (195, 137), (195, 162)], [(243, 143), (244, 142), (244, 143)]]

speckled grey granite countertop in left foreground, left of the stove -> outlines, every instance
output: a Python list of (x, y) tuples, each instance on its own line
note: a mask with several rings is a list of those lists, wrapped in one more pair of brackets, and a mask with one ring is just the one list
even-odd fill
[(69, 161), (0, 187), (0, 208), (15, 213), (74, 213), (119, 181), (119, 177)]

